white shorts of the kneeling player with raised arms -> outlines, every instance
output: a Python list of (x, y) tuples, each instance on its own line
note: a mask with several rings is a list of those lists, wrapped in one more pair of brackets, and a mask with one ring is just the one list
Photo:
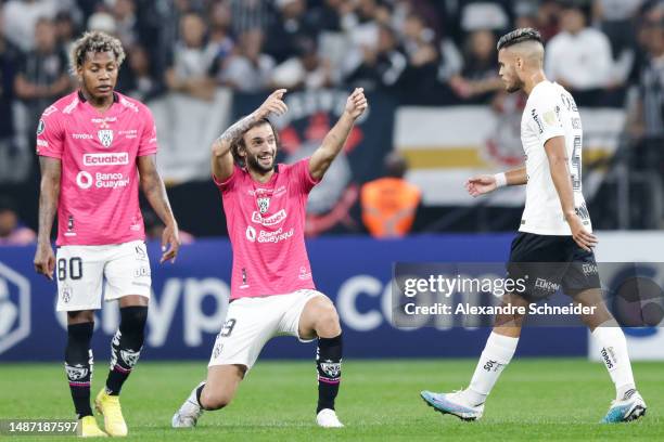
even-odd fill
[(317, 296), (324, 297), (320, 291), (303, 289), (288, 295), (232, 301), (208, 366), (238, 364), (248, 370), (263, 347), (274, 336), (294, 336), (301, 342), (310, 342), (311, 339), (299, 337), (299, 316), (309, 299)]

